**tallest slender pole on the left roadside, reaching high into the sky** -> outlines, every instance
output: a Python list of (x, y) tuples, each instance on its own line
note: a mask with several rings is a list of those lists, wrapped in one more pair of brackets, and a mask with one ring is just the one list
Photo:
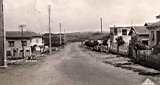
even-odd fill
[(51, 5), (48, 5), (48, 29), (49, 29), (49, 54), (52, 54), (52, 35), (51, 35)]

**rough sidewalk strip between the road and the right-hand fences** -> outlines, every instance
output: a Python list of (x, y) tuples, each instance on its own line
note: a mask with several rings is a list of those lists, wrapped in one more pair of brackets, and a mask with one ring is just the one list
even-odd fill
[(119, 56), (111, 53), (100, 53), (100, 52), (94, 52), (94, 51), (86, 51), (86, 52), (91, 56), (101, 60), (104, 63), (111, 64), (115, 67), (131, 70), (131, 71), (137, 72), (140, 75), (155, 76), (160, 74), (160, 71), (158, 70), (144, 67), (139, 64), (134, 64), (127, 57), (123, 57), (123, 56)]

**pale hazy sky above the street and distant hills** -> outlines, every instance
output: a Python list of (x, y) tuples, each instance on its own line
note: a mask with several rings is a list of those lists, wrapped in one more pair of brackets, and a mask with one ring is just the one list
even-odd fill
[(59, 23), (66, 32), (103, 31), (113, 25), (143, 25), (157, 21), (159, 0), (4, 0), (4, 21), (8, 31), (25, 30), (48, 32), (48, 4), (51, 11), (51, 30), (59, 32)]

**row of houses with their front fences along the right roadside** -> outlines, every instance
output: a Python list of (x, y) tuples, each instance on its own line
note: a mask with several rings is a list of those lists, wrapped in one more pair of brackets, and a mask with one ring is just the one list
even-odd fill
[[(130, 34), (132, 30), (134, 33)], [(113, 26), (110, 27), (110, 33), (110, 51), (116, 52), (116, 39), (121, 36), (125, 44), (119, 47), (119, 54), (127, 55), (140, 64), (160, 69), (160, 21), (142, 26)], [(145, 49), (135, 47), (135, 36), (140, 41), (138, 44), (143, 44), (139, 46), (145, 46)]]

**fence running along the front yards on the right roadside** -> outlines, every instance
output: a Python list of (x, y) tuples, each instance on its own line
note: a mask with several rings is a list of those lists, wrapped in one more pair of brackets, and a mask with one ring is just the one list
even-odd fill
[[(86, 47), (88, 48), (88, 47)], [(102, 47), (100, 47), (102, 48)], [(104, 47), (103, 47), (104, 48)], [(93, 48), (89, 48), (93, 49)], [(132, 56), (129, 55), (129, 50), (132, 52)], [(106, 51), (108, 52), (108, 51)], [(111, 43), (109, 47), (109, 52), (116, 53), (120, 55), (125, 55), (132, 60), (138, 61), (137, 63), (144, 66), (152, 67), (160, 70), (160, 53), (153, 54), (153, 50), (137, 50), (135, 51), (132, 47), (129, 48), (128, 44), (124, 44), (119, 47), (119, 53), (117, 53), (117, 44)]]

